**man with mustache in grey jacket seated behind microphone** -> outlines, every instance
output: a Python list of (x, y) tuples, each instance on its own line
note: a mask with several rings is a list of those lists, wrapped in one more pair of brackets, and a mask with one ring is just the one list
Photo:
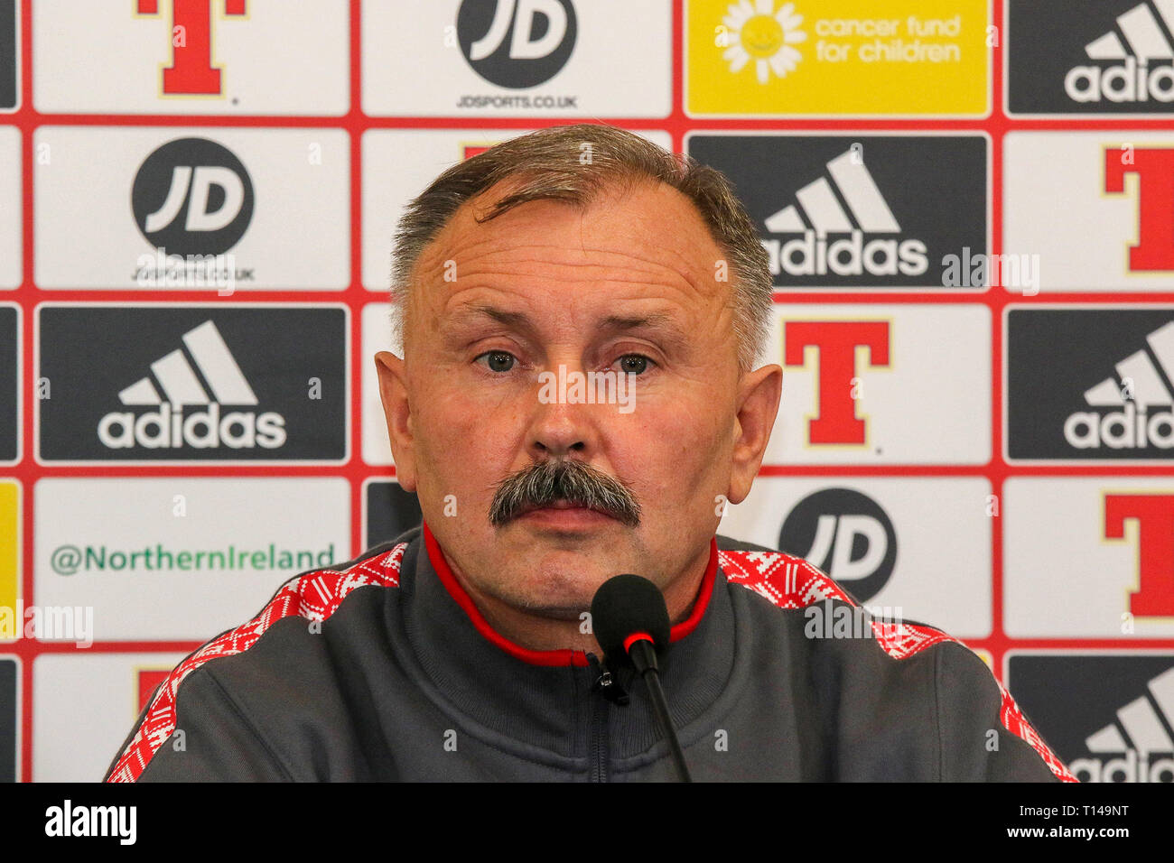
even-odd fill
[(964, 646), (825, 638), (804, 609), (856, 605), (834, 581), (715, 538), (782, 385), (721, 174), (605, 126), (514, 139), (412, 202), (393, 289), (402, 356), (376, 359), (423, 527), (190, 655), (108, 778), (675, 778), (643, 681), (600, 660), (619, 573), (664, 596), (695, 780), (1072, 778)]

